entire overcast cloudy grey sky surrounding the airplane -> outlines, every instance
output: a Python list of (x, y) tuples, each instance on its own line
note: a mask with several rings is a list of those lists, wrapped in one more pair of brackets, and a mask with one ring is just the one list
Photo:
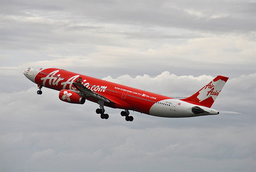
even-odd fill
[[(255, 1), (0, 1), (1, 171), (255, 171)], [(61, 102), (47, 65), (167, 96), (230, 79), (213, 109), (158, 118)]]

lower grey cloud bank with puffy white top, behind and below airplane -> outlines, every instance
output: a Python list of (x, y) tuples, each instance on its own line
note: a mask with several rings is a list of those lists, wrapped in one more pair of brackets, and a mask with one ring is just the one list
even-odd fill
[[(162, 72), (155, 77), (103, 79), (186, 96), (212, 78)], [(95, 113), (98, 105), (67, 104), (59, 101), (57, 91), (46, 88), (40, 96), (36, 87), (1, 93), (1, 155), (7, 155), (1, 157), (1, 169), (250, 171), (255, 169), (253, 88), (255, 74), (232, 78), (213, 104), (215, 109), (242, 111), (243, 115), (166, 119), (131, 112), (132, 123), (121, 117), (121, 110), (108, 107), (110, 117), (102, 120)], [(9, 159), (20, 163), (11, 166)]]

